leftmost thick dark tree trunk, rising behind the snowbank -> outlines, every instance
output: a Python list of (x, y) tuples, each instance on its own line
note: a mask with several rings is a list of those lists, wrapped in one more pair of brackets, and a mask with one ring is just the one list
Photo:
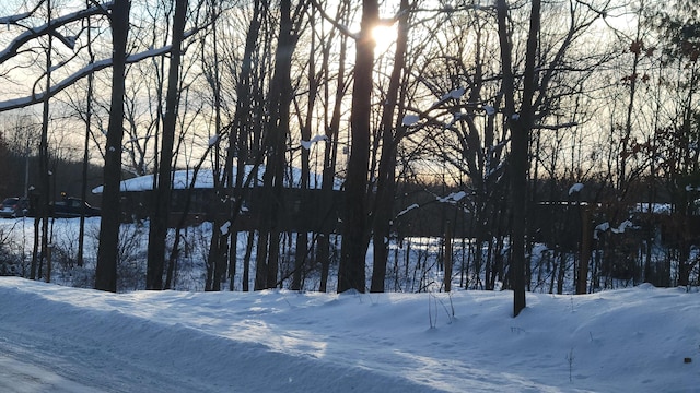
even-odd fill
[(113, 67), (112, 104), (105, 148), (104, 190), (95, 289), (117, 290), (119, 250), (119, 183), (121, 182), (121, 138), (124, 136), (124, 93), (129, 35), (129, 0), (115, 0), (112, 11)]

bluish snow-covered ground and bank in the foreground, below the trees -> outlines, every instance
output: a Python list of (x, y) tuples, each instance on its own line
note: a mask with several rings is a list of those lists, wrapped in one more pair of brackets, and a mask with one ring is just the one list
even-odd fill
[(0, 277), (2, 392), (698, 392), (700, 294), (107, 294)]

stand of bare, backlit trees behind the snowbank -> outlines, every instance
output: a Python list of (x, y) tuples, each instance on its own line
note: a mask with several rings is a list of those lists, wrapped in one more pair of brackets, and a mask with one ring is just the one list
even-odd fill
[[(233, 283), (240, 259), (249, 289), (394, 290), (394, 253), (428, 237), (439, 290), (509, 288), (514, 315), (542, 281), (576, 294), (698, 285), (699, 12), (691, 0), (3, 1), (0, 190), (37, 201), (22, 274), (47, 279), (49, 205), (70, 188), (102, 207), (97, 250), (81, 217), (70, 259), (116, 291), (121, 183), (149, 176), (139, 279), (172, 287), (195, 209), (174, 186), (185, 170), (190, 190), (211, 174), (206, 290), (247, 290)], [(250, 195), (261, 207), (242, 255)], [(295, 203), (316, 218), (289, 231)], [(317, 218), (334, 210), (334, 225)]]

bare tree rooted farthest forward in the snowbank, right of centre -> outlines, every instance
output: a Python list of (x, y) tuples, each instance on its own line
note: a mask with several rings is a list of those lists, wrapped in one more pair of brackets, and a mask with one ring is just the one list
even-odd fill
[[(542, 3), (533, 1), (524, 36), (525, 59), (522, 70), (514, 61), (513, 28), (510, 5), (506, 1), (497, 2), (499, 43), (502, 69), (502, 92), (504, 96), (503, 122), (510, 131), (510, 155), (508, 176), (510, 178), (511, 209), (511, 265), (509, 269), (511, 287), (514, 290), (513, 315), (516, 317), (525, 303), (525, 237), (527, 235), (528, 174), (530, 167), (529, 144), (533, 130), (551, 129), (562, 126), (547, 124), (547, 120), (560, 103), (557, 83), (564, 75), (576, 75), (581, 67), (570, 66), (573, 47), (582, 34), (596, 20), (605, 15), (606, 4), (598, 9), (595, 4), (570, 2), (568, 28), (560, 34), (562, 38), (544, 51), (540, 37), (540, 17)], [(590, 59), (590, 58), (584, 58)], [(587, 60), (588, 62), (591, 60)], [(588, 73), (584, 73), (588, 74)], [(521, 87), (522, 86), (522, 87)], [(571, 94), (565, 93), (563, 94)], [(520, 103), (520, 105), (518, 105)], [(569, 123), (569, 122), (567, 122)], [(563, 127), (567, 127), (565, 124)]]

